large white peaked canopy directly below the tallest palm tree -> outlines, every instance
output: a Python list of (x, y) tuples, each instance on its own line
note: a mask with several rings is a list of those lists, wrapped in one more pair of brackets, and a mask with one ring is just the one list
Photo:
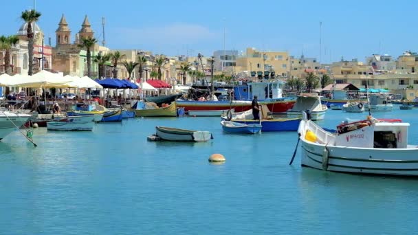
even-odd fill
[(70, 82), (72, 82), (72, 79), (64, 78), (61, 74), (53, 74), (49, 71), (42, 70), (33, 76), (18, 76), (14, 85), (10, 86), (30, 88), (67, 88), (71, 87)]

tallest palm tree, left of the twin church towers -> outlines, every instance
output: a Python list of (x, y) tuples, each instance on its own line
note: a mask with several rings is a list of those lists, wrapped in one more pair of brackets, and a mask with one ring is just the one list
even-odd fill
[(29, 38), (28, 43), (28, 54), (29, 54), (29, 68), (28, 75), (33, 74), (33, 60), (34, 60), (34, 32), (32, 30), (32, 23), (35, 24), (36, 21), (39, 21), (41, 17), (41, 12), (36, 12), (36, 10), (25, 10), (21, 14), (21, 19), (28, 23), (28, 28), (26, 30), (26, 36)]

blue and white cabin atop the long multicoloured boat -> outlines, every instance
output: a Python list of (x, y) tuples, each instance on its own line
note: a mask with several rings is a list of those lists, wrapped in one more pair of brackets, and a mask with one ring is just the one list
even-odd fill
[(249, 82), (247, 85), (234, 87), (234, 100), (252, 100), (258, 96), (259, 100), (282, 98), (283, 81)]

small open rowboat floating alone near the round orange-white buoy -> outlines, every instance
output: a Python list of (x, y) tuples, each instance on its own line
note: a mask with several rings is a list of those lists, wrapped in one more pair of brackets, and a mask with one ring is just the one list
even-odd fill
[(184, 142), (206, 142), (212, 139), (209, 131), (192, 131), (179, 128), (155, 126), (156, 135), (164, 140)]

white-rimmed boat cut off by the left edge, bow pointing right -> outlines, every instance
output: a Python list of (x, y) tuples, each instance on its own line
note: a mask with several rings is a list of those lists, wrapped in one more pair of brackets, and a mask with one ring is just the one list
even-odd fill
[(17, 130), (29, 120), (31, 115), (15, 113), (11, 111), (0, 111), (0, 140)]

